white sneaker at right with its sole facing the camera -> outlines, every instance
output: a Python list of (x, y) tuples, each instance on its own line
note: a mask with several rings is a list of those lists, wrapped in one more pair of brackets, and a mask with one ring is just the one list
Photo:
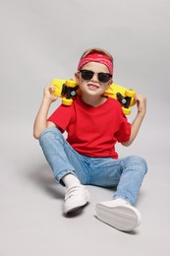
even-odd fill
[(133, 230), (142, 219), (141, 213), (122, 198), (97, 204), (96, 217), (122, 231)]

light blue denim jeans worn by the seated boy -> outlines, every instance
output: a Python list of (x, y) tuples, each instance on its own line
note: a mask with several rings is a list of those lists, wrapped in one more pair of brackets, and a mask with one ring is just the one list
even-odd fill
[(53, 127), (41, 133), (39, 143), (55, 178), (61, 184), (63, 184), (62, 177), (72, 173), (82, 184), (116, 186), (114, 198), (123, 198), (135, 205), (142, 179), (147, 171), (146, 162), (142, 158), (132, 156), (114, 160), (85, 157), (76, 152), (62, 133)]

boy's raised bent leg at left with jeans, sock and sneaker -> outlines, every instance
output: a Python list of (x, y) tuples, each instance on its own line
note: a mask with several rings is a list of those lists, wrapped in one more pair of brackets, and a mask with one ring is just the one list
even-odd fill
[(47, 128), (41, 133), (39, 143), (55, 178), (67, 187), (64, 213), (84, 206), (89, 201), (89, 193), (75, 174), (75, 168), (80, 169), (82, 165), (62, 133), (56, 128)]

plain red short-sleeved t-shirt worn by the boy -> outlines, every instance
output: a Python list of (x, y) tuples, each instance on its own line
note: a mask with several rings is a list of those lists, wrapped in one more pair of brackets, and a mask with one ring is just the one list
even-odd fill
[(118, 159), (116, 142), (127, 142), (131, 135), (121, 104), (111, 97), (97, 107), (77, 97), (70, 106), (61, 104), (48, 121), (68, 132), (67, 141), (78, 153), (92, 158)]

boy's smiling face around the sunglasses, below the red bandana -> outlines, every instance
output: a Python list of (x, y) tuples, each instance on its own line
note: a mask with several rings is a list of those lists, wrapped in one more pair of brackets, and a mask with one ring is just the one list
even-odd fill
[(106, 91), (111, 84), (113, 83), (112, 79), (109, 78), (109, 81), (106, 83), (102, 83), (99, 81), (97, 73), (109, 73), (108, 68), (101, 63), (97, 62), (88, 62), (84, 65), (82, 70), (92, 71), (94, 74), (91, 79), (85, 80), (83, 78), (82, 72), (78, 72), (75, 74), (76, 81), (80, 86), (80, 89), (83, 94), (90, 96), (101, 96), (104, 91)]

